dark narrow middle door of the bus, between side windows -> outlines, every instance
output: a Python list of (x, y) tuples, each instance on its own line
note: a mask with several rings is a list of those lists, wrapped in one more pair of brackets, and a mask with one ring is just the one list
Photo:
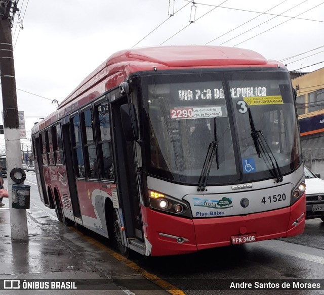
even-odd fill
[[(64, 161), (67, 174), (67, 183), (69, 186), (70, 198), (72, 203), (72, 211), (74, 218), (81, 218), (79, 200), (77, 196), (77, 190), (75, 185), (75, 173), (73, 170), (72, 162), (72, 145), (70, 138), (70, 126), (69, 123), (62, 125), (62, 137), (63, 137), (63, 150), (64, 150)], [(82, 223), (81, 219), (75, 220), (77, 223)]]

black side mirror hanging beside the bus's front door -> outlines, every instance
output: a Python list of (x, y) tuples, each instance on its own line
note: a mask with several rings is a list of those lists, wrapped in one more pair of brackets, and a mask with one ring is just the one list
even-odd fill
[(139, 134), (135, 106), (133, 104), (121, 105), (120, 118), (126, 141), (137, 140)]

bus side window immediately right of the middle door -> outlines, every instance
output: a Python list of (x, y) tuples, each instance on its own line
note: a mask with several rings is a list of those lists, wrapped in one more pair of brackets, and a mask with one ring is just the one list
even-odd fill
[(83, 159), (82, 139), (80, 129), (80, 117), (74, 116), (71, 119), (72, 147), (73, 147), (73, 165), (75, 167), (75, 173), (77, 177), (86, 177), (85, 162)]

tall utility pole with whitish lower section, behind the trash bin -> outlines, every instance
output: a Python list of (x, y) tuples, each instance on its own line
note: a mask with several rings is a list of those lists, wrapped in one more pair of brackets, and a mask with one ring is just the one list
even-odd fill
[(25, 209), (12, 208), (12, 184), (10, 177), (13, 168), (21, 166), (20, 132), (18, 120), (17, 92), (12, 46), (11, 26), (17, 11), (16, 1), (0, 3), (0, 74), (4, 108), (4, 129), (8, 171), (8, 192), (10, 206), (10, 225), (12, 240), (28, 240), (27, 217)]

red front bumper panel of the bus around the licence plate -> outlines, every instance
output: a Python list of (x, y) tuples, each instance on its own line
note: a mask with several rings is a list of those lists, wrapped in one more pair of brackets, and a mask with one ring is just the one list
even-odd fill
[[(291, 207), (247, 216), (185, 219), (142, 207), (144, 233), (152, 245), (151, 255), (178, 255), (231, 245), (231, 236), (256, 233), (256, 241), (294, 236), (305, 227), (305, 194)], [(300, 218), (302, 216), (302, 218)], [(300, 218), (296, 226), (293, 223)], [(186, 238), (178, 243), (175, 238)]]

